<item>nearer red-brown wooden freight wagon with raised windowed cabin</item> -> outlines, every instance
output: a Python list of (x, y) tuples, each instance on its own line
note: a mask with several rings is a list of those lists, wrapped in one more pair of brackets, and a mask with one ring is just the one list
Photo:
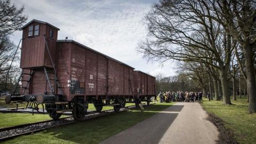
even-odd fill
[(32, 20), (22, 30), (22, 73), (6, 103), (26, 101), (36, 110), (45, 103), (53, 119), (73, 111), (79, 120), (89, 102), (97, 111), (102, 106), (119, 111), (126, 100), (137, 101), (134, 68), (73, 40), (57, 40), (59, 28), (47, 22)]

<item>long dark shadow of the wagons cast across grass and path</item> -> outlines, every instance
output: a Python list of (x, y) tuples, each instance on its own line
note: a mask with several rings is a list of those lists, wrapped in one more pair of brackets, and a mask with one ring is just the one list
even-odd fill
[[(105, 139), (107, 140), (104, 143), (145, 143), (145, 140), (149, 143), (158, 143), (178, 116), (175, 112), (181, 111), (184, 106), (168, 107), (170, 105), (151, 105), (145, 107), (145, 111), (131, 110), (93, 118), (59, 129), (47, 130), (44, 134), (51, 135), (54, 139), (76, 143), (99, 143)], [(162, 112), (156, 114), (157, 111)], [(172, 111), (174, 113), (171, 113)], [(131, 128), (128, 129), (129, 127)], [(127, 131), (124, 131), (126, 129)], [(113, 135), (115, 136), (111, 137)]]

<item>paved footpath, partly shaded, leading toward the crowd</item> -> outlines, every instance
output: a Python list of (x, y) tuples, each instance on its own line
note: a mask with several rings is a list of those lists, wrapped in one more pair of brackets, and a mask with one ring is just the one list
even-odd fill
[(219, 132), (197, 102), (177, 102), (101, 143), (217, 143)]

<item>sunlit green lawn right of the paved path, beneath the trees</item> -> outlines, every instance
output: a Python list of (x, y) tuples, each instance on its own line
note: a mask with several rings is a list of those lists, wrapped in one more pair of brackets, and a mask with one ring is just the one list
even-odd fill
[(246, 97), (237, 97), (233, 105), (223, 106), (222, 101), (207, 101), (204, 99), (202, 106), (208, 113), (220, 117), (224, 126), (235, 132), (235, 139), (239, 143), (256, 143), (256, 114), (248, 113)]

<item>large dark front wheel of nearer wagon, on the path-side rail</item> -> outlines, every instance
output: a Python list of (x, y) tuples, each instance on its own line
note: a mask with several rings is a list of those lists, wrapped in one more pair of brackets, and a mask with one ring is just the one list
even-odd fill
[[(81, 103), (81, 102), (80, 102)], [(83, 104), (81, 104), (83, 105)], [(76, 121), (81, 121), (82, 119), (84, 119), (84, 115), (87, 112), (87, 107), (82, 107), (81, 105), (77, 104), (76, 102), (73, 105), (73, 117), (74, 119), (76, 119)]]

